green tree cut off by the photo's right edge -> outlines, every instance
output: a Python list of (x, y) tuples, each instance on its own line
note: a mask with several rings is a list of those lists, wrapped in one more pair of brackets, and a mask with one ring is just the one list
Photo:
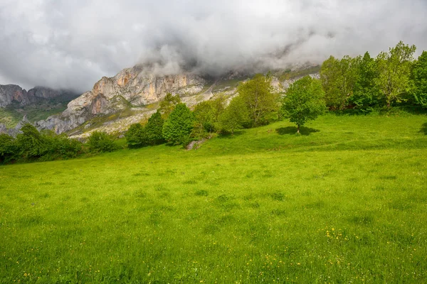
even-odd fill
[(411, 79), (412, 94), (418, 104), (427, 107), (427, 51), (423, 51), (413, 66)]

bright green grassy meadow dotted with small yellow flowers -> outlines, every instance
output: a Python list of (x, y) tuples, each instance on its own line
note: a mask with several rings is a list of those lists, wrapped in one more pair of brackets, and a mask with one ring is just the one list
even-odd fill
[(427, 116), (0, 167), (1, 283), (426, 283)]

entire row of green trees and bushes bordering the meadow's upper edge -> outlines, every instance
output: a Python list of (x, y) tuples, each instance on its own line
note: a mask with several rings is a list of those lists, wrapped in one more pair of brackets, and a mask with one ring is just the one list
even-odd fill
[[(376, 58), (369, 53), (351, 58), (331, 56), (322, 63), (320, 79), (302, 77), (286, 90), (273, 92), (272, 76), (255, 75), (238, 85), (237, 96), (227, 102), (216, 97), (191, 110), (178, 95), (167, 94), (146, 124), (132, 124), (125, 134), (127, 146), (138, 148), (162, 143), (187, 145), (190, 141), (289, 119), (296, 132), (307, 121), (329, 110), (368, 112), (399, 104), (427, 108), (427, 52), (413, 58), (414, 45), (399, 42)], [(38, 131), (25, 124), (16, 137), (0, 134), (0, 163), (14, 160), (56, 160), (85, 153), (117, 149), (112, 136), (93, 132), (85, 143)]]

